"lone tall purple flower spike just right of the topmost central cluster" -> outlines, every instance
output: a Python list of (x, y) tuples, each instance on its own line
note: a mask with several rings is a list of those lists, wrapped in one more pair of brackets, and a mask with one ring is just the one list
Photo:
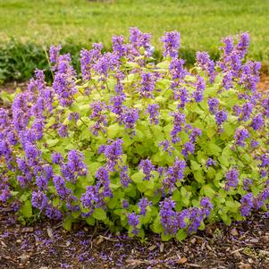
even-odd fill
[(181, 34), (178, 31), (165, 32), (161, 41), (164, 42), (164, 56), (169, 55), (172, 58), (176, 58), (179, 55)]

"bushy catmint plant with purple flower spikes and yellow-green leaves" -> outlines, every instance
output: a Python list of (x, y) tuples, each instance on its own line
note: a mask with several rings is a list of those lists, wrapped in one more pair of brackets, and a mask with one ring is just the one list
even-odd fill
[(224, 38), (218, 63), (198, 52), (190, 71), (180, 34), (161, 42), (161, 63), (139, 29), (113, 37), (113, 52), (94, 44), (81, 77), (52, 46), (52, 87), (36, 71), (12, 117), (0, 109), (0, 201), (66, 229), (85, 220), (163, 240), (266, 210), (269, 98), (256, 91), (260, 63), (245, 59), (248, 33)]

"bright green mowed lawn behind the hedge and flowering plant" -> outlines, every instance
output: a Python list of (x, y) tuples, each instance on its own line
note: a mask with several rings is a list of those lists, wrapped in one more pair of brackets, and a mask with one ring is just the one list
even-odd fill
[(181, 32), (181, 46), (215, 51), (221, 38), (251, 34), (250, 56), (269, 60), (269, 0), (0, 0), (0, 41), (67, 42), (110, 46), (113, 35), (130, 27), (152, 33), (154, 46), (164, 31)]

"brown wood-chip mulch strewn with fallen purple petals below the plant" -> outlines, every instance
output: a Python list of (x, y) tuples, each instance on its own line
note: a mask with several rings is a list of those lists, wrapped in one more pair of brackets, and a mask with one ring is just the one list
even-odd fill
[(0, 207), (0, 268), (269, 268), (269, 219), (256, 213), (248, 221), (206, 226), (183, 242), (162, 242), (149, 234), (145, 243), (96, 231), (80, 224), (22, 226), (13, 210)]

